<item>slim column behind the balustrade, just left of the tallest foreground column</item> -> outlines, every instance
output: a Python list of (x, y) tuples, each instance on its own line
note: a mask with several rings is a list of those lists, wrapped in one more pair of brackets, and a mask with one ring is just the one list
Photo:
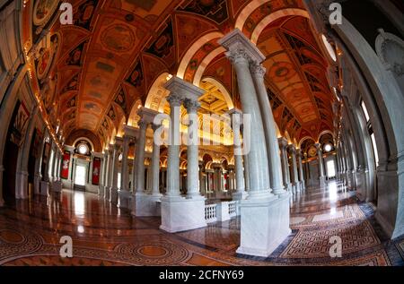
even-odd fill
[(232, 117), (233, 126), (233, 151), (234, 151), (234, 170), (235, 170), (235, 192), (233, 192), (233, 200), (243, 200), (247, 197), (245, 191), (244, 172), (242, 165), (242, 137), (241, 137), (241, 118), (242, 111), (233, 108), (229, 115)]

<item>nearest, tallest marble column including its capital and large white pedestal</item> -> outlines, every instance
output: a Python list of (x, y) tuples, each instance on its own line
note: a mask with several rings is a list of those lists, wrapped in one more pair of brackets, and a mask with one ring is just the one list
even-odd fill
[(265, 56), (238, 29), (220, 39), (219, 44), (227, 50), (225, 55), (233, 63), (244, 116), (250, 116), (250, 125), (243, 126), (243, 142), (250, 146), (247, 147), (250, 148), (250, 192), (247, 199), (240, 201), (241, 244), (237, 253), (268, 257), (282, 244), (291, 229), (289, 195), (271, 193), (265, 131), (250, 73), (250, 65), (261, 64)]

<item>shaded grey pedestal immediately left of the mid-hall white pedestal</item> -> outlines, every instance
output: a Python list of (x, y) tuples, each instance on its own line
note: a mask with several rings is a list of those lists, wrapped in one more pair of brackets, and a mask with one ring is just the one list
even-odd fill
[(161, 198), (158, 195), (136, 193), (132, 215), (136, 217), (162, 216), (160, 209)]

